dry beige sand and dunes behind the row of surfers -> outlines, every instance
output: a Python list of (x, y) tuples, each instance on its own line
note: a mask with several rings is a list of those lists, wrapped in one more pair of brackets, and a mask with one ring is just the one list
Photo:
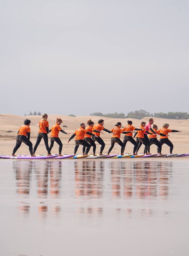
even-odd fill
[[(64, 116), (64, 115), (49, 115), (49, 128), (52, 127), (56, 123), (56, 118), (59, 117), (63, 120), (61, 127), (66, 132), (70, 133), (70, 135), (66, 135), (63, 133), (59, 133), (59, 138), (63, 143), (63, 150), (62, 154), (72, 154), (73, 149), (75, 147), (74, 138), (68, 144), (69, 137), (75, 132), (75, 130), (80, 126), (80, 123), (84, 122), (86, 124), (87, 120), (91, 119), (94, 123), (97, 123), (99, 119), (104, 119), (104, 127), (107, 129), (112, 129), (117, 122), (121, 122), (122, 126), (127, 125), (128, 119), (114, 119), (110, 117), (99, 117), (99, 116)], [(16, 135), (20, 126), (23, 125), (23, 121), (25, 119), (31, 120), (31, 135), (30, 140), (35, 145), (37, 133), (38, 133), (38, 122), (40, 121), (40, 116), (16, 116), (10, 114), (1, 114), (0, 115), (0, 154), (1, 155), (11, 155), (13, 148), (16, 142)], [(141, 121), (148, 122), (149, 117), (145, 117), (142, 120), (138, 119), (129, 119), (133, 121), (133, 126), (139, 127)], [(181, 133), (169, 133), (169, 139), (172, 141), (174, 145), (173, 153), (189, 153), (189, 121), (188, 120), (170, 120), (170, 119), (160, 119), (154, 118), (154, 123), (158, 125), (158, 128), (162, 127), (163, 123), (169, 123), (170, 129), (175, 130), (182, 130)], [(63, 125), (67, 127), (63, 127)], [(10, 132), (11, 131), (11, 132)], [(103, 132), (101, 135), (102, 139), (104, 140), (106, 146), (103, 153), (107, 153), (110, 147), (110, 140), (112, 135), (106, 132)], [(50, 134), (49, 137), (49, 144), (50, 144)], [(124, 135), (121, 135), (121, 140), (123, 140)], [(159, 139), (159, 136), (158, 136)], [(99, 153), (100, 145), (97, 144), (96, 152)], [(141, 146), (140, 152), (142, 153), (144, 146)], [(125, 153), (131, 153), (133, 151), (133, 145), (130, 142), (127, 142)], [(151, 153), (156, 153), (157, 147), (155, 145), (151, 146)], [(37, 148), (36, 154), (46, 154), (46, 148), (44, 146), (44, 141), (41, 141), (40, 145)], [(55, 142), (54, 147), (51, 151), (52, 154), (58, 153), (58, 145)], [(82, 153), (82, 146), (79, 146), (78, 154)], [(92, 153), (92, 149), (90, 152)], [(120, 146), (115, 144), (112, 152), (113, 153), (120, 153)], [(168, 154), (169, 147), (167, 145), (162, 146), (162, 153)], [(21, 147), (18, 149), (16, 154), (29, 154), (28, 146), (22, 143)], [(183, 158), (182, 158), (183, 159)]]

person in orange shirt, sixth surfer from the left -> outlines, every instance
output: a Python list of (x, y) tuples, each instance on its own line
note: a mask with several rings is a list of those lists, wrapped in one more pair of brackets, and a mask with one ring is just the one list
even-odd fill
[[(114, 132), (111, 132), (110, 130), (104, 128), (103, 125), (104, 125), (104, 120), (103, 119), (98, 120), (98, 124), (94, 124), (93, 128), (95, 130), (98, 130), (99, 132), (93, 132), (93, 136), (91, 137), (93, 141), (97, 141), (101, 145), (99, 155), (103, 155), (102, 152), (105, 147), (105, 143), (104, 143), (103, 139), (100, 138), (100, 132), (103, 130), (107, 133), (114, 133)], [(97, 135), (97, 136), (95, 136), (95, 135)]]

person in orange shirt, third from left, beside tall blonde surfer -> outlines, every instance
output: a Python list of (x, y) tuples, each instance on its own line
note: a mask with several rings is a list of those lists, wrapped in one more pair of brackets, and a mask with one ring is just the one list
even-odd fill
[(52, 126), (52, 128), (49, 130), (49, 133), (51, 132), (49, 150), (51, 151), (51, 149), (54, 145), (54, 142), (56, 141), (59, 145), (59, 156), (62, 156), (62, 154), (61, 154), (61, 152), (62, 152), (62, 142), (58, 137), (58, 133), (62, 132), (62, 133), (65, 133), (65, 134), (69, 134), (69, 133), (64, 132), (64, 130), (62, 130), (62, 128), (60, 127), (61, 123), (62, 123), (62, 119), (57, 118), (56, 119), (56, 124), (54, 124), (54, 126)]

